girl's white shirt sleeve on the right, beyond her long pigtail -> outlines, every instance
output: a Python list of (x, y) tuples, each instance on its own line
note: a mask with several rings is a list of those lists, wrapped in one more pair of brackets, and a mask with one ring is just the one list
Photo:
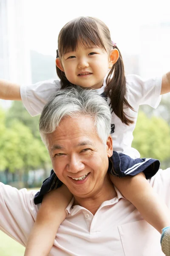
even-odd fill
[(142, 79), (137, 75), (126, 76), (127, 101), (132, 105), (150, 105), (157, 108), (161, 101), (161, 77)]

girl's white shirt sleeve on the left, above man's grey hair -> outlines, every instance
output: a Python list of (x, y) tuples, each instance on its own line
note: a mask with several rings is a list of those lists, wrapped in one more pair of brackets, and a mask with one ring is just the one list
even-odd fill
[(42, 112), (49, 97), (59, 89), (61, 89), (59, 80), (42, 81), (21, 86), (20, 94), (26, 110), (31, 116), (36, 116)]

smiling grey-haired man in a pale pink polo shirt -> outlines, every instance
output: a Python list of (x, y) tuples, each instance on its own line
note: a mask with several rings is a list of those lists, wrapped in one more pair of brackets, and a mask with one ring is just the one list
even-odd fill
[[(61, 90), (42, 111), (42, 140), (54, 171), (74, 195), (51, 256), (164, 255), (160, 234), (109, 179), (110, 129), (109, 107), (94, 91)], [(170, 207), (170, 172), (159, 171), (150, 184)], [(24, 246), (39, 209), (35, 193), (0, 183), (0, 229)]]

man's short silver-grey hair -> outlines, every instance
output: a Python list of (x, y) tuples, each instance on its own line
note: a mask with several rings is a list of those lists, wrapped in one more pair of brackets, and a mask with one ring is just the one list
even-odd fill
[(53, 133), (62, 118), (67, 116), (74, 118), (79, 116), (92, 117), (96, 134), (106, 145), (111, 133), (111, 112), (107, 102), (94, 90), (74, 86), (54, 93), (42, 110), (39, 130), (46, 147), (48, 147), (48, 134)]

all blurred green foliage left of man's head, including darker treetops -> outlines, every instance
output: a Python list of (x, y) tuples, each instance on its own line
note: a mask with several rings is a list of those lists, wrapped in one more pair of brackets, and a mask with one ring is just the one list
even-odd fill
[(32, 118), (22, 102), (14, 102), (5, 113), (0, 111), (0, 170), (28, 173), (50, 163), (38, 131), (39, 117)]

